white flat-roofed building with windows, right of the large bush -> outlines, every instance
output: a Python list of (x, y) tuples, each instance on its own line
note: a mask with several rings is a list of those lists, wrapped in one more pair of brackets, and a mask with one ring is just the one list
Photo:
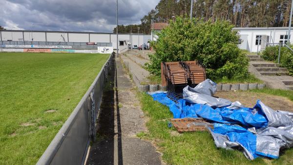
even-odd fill
[[(237, 27), (241, 40), (238, 47), (250, 52), (263, 50), (268, 43), (287, 43), (288, 27)], [(293, 34), (293, 30), (291, 31)], [(258, 42), (259, 40), (259, 42)], [(290, 39), (292, 43), (293, 39)]]

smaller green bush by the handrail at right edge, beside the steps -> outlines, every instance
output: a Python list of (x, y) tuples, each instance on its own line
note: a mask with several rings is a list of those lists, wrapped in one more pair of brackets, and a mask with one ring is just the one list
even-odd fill
[[(293, 45), (290, 45), (293, 48)], [(266, 47), (262, 51), (261, 57), (265, 60), (277, 63), (279, 55), (279, 46)], [(280, 64), (281, 67), (287, 68), (290, 75), (293, 75), (293, 52), (287, 47), (281, 47), (280, 53)]]

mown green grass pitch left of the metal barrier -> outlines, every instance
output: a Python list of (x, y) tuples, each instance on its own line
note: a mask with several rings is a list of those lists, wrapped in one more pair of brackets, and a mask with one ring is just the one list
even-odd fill
[(0, 165), (36, 164), (108, 57), (0, 53)]

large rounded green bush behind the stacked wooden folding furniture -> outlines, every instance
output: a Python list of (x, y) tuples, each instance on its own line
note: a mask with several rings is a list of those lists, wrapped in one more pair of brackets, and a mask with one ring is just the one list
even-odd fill
[(155, 49), (147, 69), (160, 75), (161, 62), (198, 60), (210, 79), (245, 78), (249, 75), (249, 59), (237, 47), (239, 36), (229, 22), (203, 22), (176, 17), (158, 33)]

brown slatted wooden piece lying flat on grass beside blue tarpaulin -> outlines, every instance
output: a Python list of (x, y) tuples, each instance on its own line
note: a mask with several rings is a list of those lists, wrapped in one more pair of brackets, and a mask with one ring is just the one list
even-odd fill
[(213, 129), (213, 124), (203, 118), (172, 118), (171, 123), (179, 133), (207, 131), (207, 127)]

